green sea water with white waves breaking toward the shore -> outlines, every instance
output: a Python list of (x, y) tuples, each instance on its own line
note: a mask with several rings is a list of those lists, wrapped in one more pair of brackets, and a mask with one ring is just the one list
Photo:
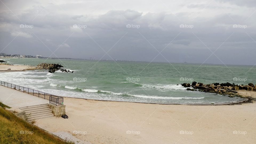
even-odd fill
[[(74, 73), (47, 70), (6, 72), (0, 80), (53, 95), (159, 104), (233, 103), (212, 93), (187, 91), (181, 83), (256, 84), (256, 66), (192, 63), (128, 62), (36, 58), (2, 58), (9, 64), (59, 63)], [(179, 85), (177, 85), (179, 84)]]

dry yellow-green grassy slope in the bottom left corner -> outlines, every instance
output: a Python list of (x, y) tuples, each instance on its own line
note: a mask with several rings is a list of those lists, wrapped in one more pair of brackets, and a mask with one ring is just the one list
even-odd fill
[[(2, 105), (2, 103), (1, 103)], [(5, 105), (6, 107), (7, 105)], [(7, 106), (8, 107), (8, 106)], [(37, 126), (31, 125), (13, 113), (0, 107), (0, 143), (59, 143), (71, 144), (74, 142), (62, 141), (50, 135)]]

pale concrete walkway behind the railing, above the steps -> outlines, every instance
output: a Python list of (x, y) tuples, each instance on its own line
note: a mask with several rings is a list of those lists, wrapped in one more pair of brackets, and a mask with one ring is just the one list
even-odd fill
[(27, 107), (38, 104), (48, 104), (49, 100), (38, 98), (18, 90), (0, 86), (0, 101), (12, 108)]

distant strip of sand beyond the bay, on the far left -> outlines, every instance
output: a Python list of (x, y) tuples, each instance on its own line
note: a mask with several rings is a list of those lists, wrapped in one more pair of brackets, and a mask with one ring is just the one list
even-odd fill
[[(11, 69), (11, 70), (8, 70)], [(1, 65), (0, 64), (0, 71), (25, 71), (25, 70), (35, 70), (38, 69), (34, 66), (27, 66), (27, 65)]]

